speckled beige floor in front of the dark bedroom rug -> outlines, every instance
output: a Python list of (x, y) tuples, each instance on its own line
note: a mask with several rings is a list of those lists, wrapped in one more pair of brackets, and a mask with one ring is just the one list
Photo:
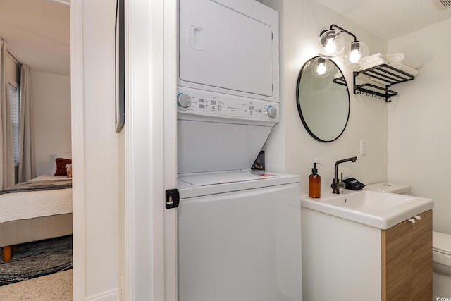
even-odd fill
[(0, 300), (73, 300), (72, 269), (0, 286)]

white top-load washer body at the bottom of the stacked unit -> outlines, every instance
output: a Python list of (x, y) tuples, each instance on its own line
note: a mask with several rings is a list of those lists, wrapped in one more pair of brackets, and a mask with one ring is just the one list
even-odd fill
[(302, 300), (297, 176), (206, 173), (178, 183), (179, 301)]

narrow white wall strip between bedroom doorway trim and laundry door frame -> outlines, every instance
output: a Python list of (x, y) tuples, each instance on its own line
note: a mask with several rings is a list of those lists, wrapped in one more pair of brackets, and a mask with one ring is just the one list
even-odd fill
[(118, 288), (115, 13), (116, 1), (83, 1), (87, 300), (116, 300)]

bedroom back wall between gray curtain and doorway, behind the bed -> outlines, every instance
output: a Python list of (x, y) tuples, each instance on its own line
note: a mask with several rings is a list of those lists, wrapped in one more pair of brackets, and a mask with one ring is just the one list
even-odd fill
[(31, 73), (34, 175), (50, 174), (52, 152), (70, 152), (70, 76)]

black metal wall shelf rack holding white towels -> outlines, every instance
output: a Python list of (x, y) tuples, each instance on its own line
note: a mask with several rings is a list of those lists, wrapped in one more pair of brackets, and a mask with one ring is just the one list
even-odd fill
[[(369, 82), (357, 85), (356, 79), (359, 75), (367, 75), (371, 78), (371, 81), (376, 80), (377, 82), (379, 80), (382, 86), (373, 85)], [(388, 89), (388, 87), (400, 82), (413, 80), (414, 78), (414, 75), (384, 63), (364, 70), (354, 71), (354, 94), (372, 95), (378, 99), (384, 99), (385, 102), (391, 102), (390, 97), (397, 95), (397, 92)]]

